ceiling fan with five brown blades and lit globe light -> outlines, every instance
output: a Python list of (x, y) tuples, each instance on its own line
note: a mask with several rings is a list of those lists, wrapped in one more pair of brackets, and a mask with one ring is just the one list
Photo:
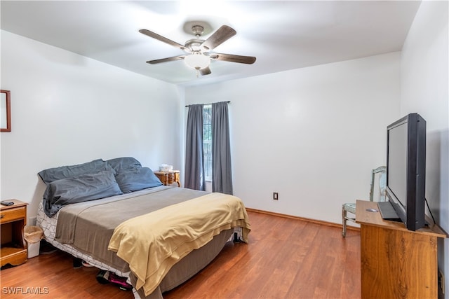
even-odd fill
[(242, 55), (232, 55), (232, 54), (222, 54), (211, 52), (217, 46), (230, 39), (232, 36), (236, 35), (236, 31), (227, 25), (222, 25), (217, 31), (215, 31), (208, 39), (201, 39), (201, 34), (203, 34), (204, 27), (201, 25), (193, 25), (192, 32), (196, 36), (195, 39), (189, 39), (185, 42), (185, 45), (171, 41), (164, 36), (151, 32), (147, 29), (140, 29), (139, 32), (145, 34), (153, 39), (162, 41), (163, 43), (168, 43), (170, 46), (179, 48), (183, 50), (186, 55), (178, 55), (174, 57), (162, 58), (159, 60), (149, 60), (149, 64), (158, 64), (161, 62), (170, 62), (174, 60), (184, 60), (187, 66), (192, 69), (196, 69), (196, 76), (198, 74), (208, 75), (211, 73), (209, 64), (210, 60), (222, 60), (227, 62), (238, 62), (243, 64), (253, 64), (255, 62), (255, 57), (253, 56), (242, 56)]

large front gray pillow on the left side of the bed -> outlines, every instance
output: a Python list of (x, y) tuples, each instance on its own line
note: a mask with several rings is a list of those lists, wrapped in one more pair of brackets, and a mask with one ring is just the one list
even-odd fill
[(67, 204), (98, 200), (119, 194), (122, 192), (111, 170), (81, 174), (48, 183), (43, 193), (43, 210), (47, 216), (51, 217)]

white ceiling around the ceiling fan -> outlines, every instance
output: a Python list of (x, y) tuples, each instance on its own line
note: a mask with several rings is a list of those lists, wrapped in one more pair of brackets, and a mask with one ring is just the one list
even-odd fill
[[(1, 1), (1, 29), (138, 74), (197, 85), (401, 50), (420, 1)], [(184, 44), (185, 22), (237, 34), (214, 52), (255, 56), (254, 64), (213, 61), (196, 78), (180, 49), (140, 34), (149, 29)]]

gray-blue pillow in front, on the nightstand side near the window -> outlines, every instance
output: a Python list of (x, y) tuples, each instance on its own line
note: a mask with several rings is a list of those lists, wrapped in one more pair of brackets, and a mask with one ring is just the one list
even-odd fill
[(148, 167), (128, 169), (115, 177), (123, 193), (161, 186), (159, 178)]

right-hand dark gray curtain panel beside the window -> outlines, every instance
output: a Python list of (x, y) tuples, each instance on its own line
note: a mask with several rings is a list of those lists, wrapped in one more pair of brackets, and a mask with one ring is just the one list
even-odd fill
[(232, 194), (227, 102), (212, 104), (212, 191)]

